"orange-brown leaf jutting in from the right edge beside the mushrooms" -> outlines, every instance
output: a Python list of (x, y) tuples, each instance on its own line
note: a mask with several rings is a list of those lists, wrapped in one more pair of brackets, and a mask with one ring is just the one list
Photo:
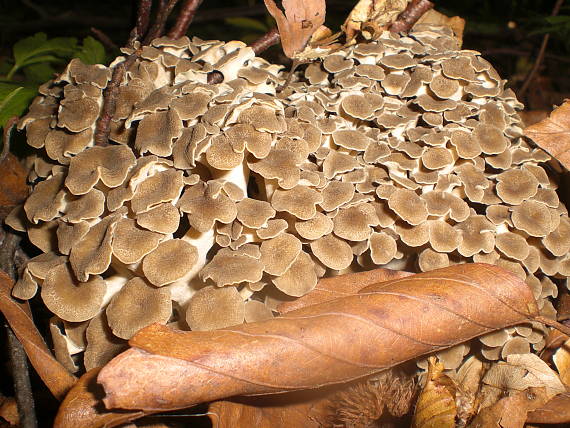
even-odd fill
[(524, 134), (541, 149), (570, 169), (570, 102), (565, 101), (550, 117), (529, 126)]

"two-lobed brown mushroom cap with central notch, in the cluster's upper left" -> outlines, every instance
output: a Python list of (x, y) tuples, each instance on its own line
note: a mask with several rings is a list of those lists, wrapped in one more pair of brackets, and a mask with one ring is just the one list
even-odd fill
[(74, 195), (84, 195), (99, 180), (108, 187), (117, 187), (135, 162), (128, 146), (91, 147), (71, 159), (65, 185)]

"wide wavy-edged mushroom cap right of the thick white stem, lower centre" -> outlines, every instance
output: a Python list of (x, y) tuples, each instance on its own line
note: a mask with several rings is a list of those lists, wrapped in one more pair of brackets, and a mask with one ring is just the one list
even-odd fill
[(211, 279), (218, 287), (254, 283), (263, 276), (263, 263), (242, 251), (220, 250), (212, 260), (202, 268), (200, 277), (203, 281)]

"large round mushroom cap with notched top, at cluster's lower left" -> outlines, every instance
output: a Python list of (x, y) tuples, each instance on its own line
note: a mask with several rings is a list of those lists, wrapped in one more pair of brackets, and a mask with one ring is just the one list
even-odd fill
[(67, 263), (50, 270), (42, 285), (42, 300), (61, 319), (86, 321), (101, 310), (107, 286), (100, 276), (78, 283)]

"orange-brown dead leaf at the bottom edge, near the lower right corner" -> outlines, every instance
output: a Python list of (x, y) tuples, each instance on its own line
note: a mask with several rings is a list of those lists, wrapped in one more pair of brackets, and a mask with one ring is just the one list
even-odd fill
[(545, 388), (514, 392), (479, 411), (469, 428), (523, 428), (528, 412), (544, 405), (547, 397)]

